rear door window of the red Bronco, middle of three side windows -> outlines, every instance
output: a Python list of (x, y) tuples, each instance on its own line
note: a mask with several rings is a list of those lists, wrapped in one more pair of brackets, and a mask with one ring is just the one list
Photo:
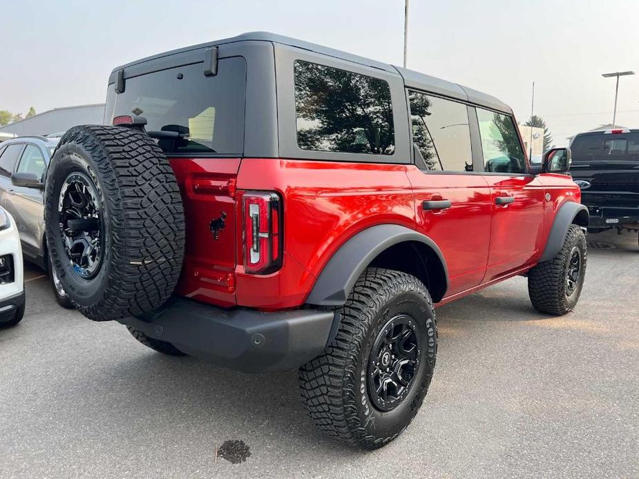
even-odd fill
[(426, 169), (473, 171), (466, 105), (419, 92), (409, 92), (412, 141)]

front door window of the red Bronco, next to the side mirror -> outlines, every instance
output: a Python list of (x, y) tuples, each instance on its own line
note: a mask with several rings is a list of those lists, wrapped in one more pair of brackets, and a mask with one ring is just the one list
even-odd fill
[(513, 119), (477, 108), (477, 120), (486, 172), (525, 175), (526, 160)]

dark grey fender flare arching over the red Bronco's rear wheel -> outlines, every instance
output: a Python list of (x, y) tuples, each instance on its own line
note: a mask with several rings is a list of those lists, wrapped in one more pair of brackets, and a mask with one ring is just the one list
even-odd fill
[(347, 300), (357, 278), (379, 253), (394, 244), (421, 242), (435, 252), (444, 268), (448, 289), (448, 269), (439, 246), (426, 235), (399, 224), (379, 224), (348, 239), (331, 257), (307, 297), (307, 304), (341, 306)]

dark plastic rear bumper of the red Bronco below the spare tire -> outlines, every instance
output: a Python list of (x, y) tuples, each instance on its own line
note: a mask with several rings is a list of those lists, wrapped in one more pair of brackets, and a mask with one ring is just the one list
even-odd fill
[(337, 333), (337, 316), (317, 309), (227, 310), (173, 297), (153, 313), (120, 322), (195, 358), (260, 372), (294, 369), (320, 355)]

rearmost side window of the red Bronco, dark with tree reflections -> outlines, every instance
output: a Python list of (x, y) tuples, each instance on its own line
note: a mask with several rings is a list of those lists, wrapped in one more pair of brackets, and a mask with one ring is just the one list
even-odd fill
[(392, 155), (395, 150), (388, 82), (296, 61), (297, 144), (303, 150)]

